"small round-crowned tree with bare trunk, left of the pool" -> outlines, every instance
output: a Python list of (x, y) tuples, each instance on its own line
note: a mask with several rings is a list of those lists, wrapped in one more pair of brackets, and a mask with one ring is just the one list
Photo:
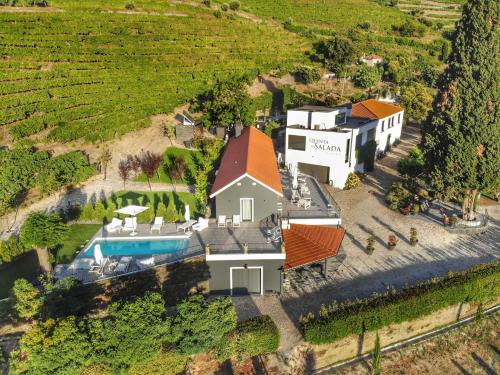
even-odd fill
[(48, 249), (60, 244), (67, 233), (68, 226), (62, 222), (59, 215), (35, 212), (26, 219), (19, 239), (24, 246), (36, 249), (40, 268), (43, 272), (50, 272), (52, 267)]

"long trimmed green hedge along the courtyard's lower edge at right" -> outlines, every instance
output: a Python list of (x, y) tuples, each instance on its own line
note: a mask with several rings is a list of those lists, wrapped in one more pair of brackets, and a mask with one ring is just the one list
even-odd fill
[(313, 344), (331, 343), (459, 303), (492, 302), (500, 295), (499, 271), (500, 262), (495, 261), (434, 278), (399, 293), (393, 290), (372, 298), (322, 306), (320, 317), (303, 321), (304, 337)]

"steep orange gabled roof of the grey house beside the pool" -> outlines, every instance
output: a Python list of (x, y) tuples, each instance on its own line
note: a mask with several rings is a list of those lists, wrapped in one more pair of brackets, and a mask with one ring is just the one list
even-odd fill
[(229, 141), (210, 197), (245, 176), (276, 194), (283, 195), (273, 141), (254, 127), (246, 128), (239, 137)]

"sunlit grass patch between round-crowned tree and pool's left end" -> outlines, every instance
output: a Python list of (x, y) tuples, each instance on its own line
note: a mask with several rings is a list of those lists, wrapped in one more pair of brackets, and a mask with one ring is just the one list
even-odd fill
[(70, 225), (68, 238), (56, 249), (56, 263), (71, 263), (78, 251), (96, 234), (100, 227), (99, 224)]

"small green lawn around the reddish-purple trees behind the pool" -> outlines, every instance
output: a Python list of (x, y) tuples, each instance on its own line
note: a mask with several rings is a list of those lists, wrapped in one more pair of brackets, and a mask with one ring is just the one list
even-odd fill
[[(194, 176), (198, 170), (198, 167), (201, 163), (201, 159), (203, 155), (200, 151), (195, 150), (186, 150), (184, 148), (177, 147), (169, 147), (165, 154), (163, 154), (164, 163), (160, 168), (160, 178), (155, 176), (151, 179), (151, 182), (163, 182), (163, 183), (172, 183), (172, 179), (169, 176), (169, 170), (175, 164), (175, 159), (179, 156), (182, 156), (186, 161), (186, 174), (181, 181), (176, 182), (176, 184), (180, 185), (192, 185), (194, 184)], [(147, 182), (147, 178), (144, 174), (140, 174), (137, 176), (135, 181)]]

